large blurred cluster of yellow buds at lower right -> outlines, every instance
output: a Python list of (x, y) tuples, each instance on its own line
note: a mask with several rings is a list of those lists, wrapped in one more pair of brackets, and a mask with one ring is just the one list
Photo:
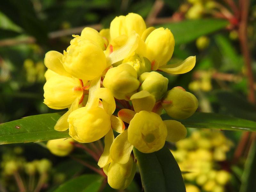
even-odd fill
[[(230, 173), (218, 169), (233, 143), (221, 131), (201, 130), (176, 143), (172, 151), (183, 174), (188, 192), (224, 192)], [(195, 185), (196, 184), (196, 185)]]

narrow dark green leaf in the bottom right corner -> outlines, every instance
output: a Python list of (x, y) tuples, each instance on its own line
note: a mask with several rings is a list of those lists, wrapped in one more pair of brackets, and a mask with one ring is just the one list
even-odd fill
[(256, 143), (252, 143), (249, 155), (244, 165), (244, 172), (241, 178), (241, 188), (239, 192), (256, 191)]

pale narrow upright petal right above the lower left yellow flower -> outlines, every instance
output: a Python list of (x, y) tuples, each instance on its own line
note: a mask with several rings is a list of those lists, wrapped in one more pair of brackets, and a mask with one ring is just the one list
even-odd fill
[(92, 80), (90, 89), (89, 89), (89, 98), (86, 104), (87, 108), (95, 108), (99, 105), (99, 100), (100, 98), (98, 95), (95, 94), (95, 92), (100, 89), (100, 79), (101, 76), (96, 77), (95, 79)]

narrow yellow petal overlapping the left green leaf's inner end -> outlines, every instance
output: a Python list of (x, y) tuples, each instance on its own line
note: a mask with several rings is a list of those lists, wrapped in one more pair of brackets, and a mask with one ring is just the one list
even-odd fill
[(71, 105), (71, 107), (68, 109), (68, 111), (59, 118), (59, 120), (57, 121), (56, 125), (54, 126), (54, 129), (56, 131), (66, 131), (69, 127), (68, 125), (68, 116), (69, 114), (76, 110), (78, 108), (79, 105), (79, 99), (77, 98)]

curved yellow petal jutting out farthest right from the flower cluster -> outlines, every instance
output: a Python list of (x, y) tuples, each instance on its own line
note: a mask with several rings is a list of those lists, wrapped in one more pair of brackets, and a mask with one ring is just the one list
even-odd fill
[(196, 65), (196, 56), (190, 56), (184, 61), (170, 65), (164, 65), (158, 68), (161, 71), (171, 74), (183, 74), (192, 70)]

